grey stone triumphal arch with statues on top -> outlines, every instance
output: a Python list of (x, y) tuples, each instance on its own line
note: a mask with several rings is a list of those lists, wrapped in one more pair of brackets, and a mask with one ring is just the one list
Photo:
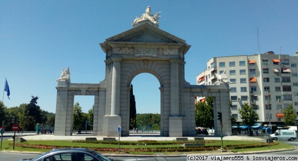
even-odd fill
[[(183, 137), (195, 135), (195, 96), (214, 97), (215, 135), (220, 135), (217, 112), (223, 112), (223, 135), (231, 135), (229, 87), (190, 85), (184, 79), (184, 56), (190, 45), (181, 38), (158, 28), (158, 16), (150, 8), (137, 18), (133, 28), (100, 43), (106, 54), (105, 79), (100, 83), (72, 83), (69, 68), (57, 80), (57, 106), (54, 135), (73, 133), (75, 95), (94, 95), (93, 135), (129, 136), (131, 82), (141, 73), (150, 73), (160, 83), (160, 135)], [(198, 57), (199, 58), (199, 57)]]

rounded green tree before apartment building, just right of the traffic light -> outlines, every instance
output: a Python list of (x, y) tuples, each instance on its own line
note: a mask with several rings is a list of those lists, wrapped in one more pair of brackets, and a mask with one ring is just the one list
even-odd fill
[(259, 119), (257, 113), (253, 110), (253, 106), (248, 103), (244, 103), (241, 108), (238, 109), (238, 112), (243, 125), (252, 126)]

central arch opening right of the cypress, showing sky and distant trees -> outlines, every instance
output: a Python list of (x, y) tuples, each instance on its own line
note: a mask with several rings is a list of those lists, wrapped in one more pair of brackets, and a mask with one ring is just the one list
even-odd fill
[(141, 73), (133, 80), (136, 102), (135, 129), (130, 135), (160, 135), (160, 83), (155, 76)]

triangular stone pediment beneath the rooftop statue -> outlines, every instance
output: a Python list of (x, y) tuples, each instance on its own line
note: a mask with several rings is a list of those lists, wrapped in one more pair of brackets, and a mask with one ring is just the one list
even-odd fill
[(144, 23), (130, 30), (106, 39), (108, 42), (156, 42), (156, 43), (185, 43), (172, 34), (155, 26)]

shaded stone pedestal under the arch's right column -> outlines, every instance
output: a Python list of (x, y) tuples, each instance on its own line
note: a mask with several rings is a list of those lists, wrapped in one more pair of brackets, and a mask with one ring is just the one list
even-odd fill
[(169, 137), (181, 137), (182, 134), (182, 123), (183, 117), (181, 116), (170, 116), (169, 117)]

